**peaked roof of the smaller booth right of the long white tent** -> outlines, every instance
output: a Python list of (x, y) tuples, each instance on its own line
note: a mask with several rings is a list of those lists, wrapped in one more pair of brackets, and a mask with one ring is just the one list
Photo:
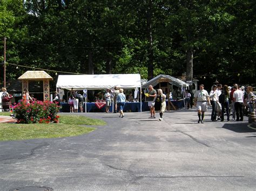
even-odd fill
[(147, 83), (143, 84), (142, 88), (147, 88), (147, 87), (149, 87), (149, 85), (156, 86), (157, 84), (159, 84), (160, 79), (168, 79), (170, 84), (180, 87), (181, 89), (183, 87), (190, 86), (189, 84), (185, 83), (184, 81), (182, 81), (178, 78), (174, 78), (169, 75), (160, 74), (157, 77), (154, 77), (153, 79), (147, 81)]

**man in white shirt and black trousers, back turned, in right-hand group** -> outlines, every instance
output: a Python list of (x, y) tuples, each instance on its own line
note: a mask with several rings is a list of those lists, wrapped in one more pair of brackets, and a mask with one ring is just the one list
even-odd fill
[(235, 114), (237, 114), (237, 121), (244, 120), (244, 113), (242, 106), (244, 105), (244, 94), (239, 86), (234, 86), (233, 103), (235, 104)]

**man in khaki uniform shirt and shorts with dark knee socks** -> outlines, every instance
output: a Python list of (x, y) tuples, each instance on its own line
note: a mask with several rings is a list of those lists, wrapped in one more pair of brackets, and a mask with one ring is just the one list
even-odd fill
[(206, 90), (204, 90), (204, 84), (199, 85), (200, 90), (196, 92), (194, 95), (194, 103), (197, 107), (197, 114), (198, 114), (198, 124), (201, 122), (204, 123), (205, 112), (207, 111), (207, 103), (210, 103), (210, 95)]

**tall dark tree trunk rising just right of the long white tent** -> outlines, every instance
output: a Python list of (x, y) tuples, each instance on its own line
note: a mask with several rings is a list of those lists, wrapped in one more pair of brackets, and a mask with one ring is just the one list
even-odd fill
[(153, 58), (153, 39), (152, 39), (152, 0), (149, 0), (149, 6), (147, 9), (147, 41), (148, 41), (148, 57), (149, 61), (147, 64), (147, 80), (154, 78), (154, 58)]

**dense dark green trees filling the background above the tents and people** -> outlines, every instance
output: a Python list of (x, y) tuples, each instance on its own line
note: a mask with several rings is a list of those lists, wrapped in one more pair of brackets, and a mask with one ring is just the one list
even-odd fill
[(17, 64), (52, 70), (52, 77), (63, 71), (150, 79), (191, 68), (201, 83), (252, 84), (255, 8), (252, 0), (2, 0), (6, 77), (31, 70)]

